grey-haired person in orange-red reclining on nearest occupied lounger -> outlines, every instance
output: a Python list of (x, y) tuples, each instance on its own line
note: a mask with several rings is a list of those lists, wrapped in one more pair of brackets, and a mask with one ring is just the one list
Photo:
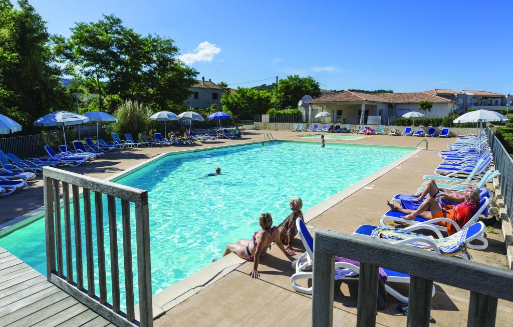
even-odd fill
[[(401, 216), (401, 218), (407, 220), (415, 220), (416, 216), (426, 219), (448, 218), (456, 221), (458, 226), (463, 227), (477, 212), (480, 197), (478, 190), (467, 189), (465, 190), (465, 201), (457, 206), (448, 205), (441, 207), (439, 203), (430, 196), (422, 202), (422, 205), (420, 205), (417, 210), (399, 208), (392, 205), (389, 201), (387, 201), (387, 205), (390, 207), (391, 211), (404, 213), (405, 215)], [(427, 211), (428, 209), (430, 211)], [(447, 235), (449, 236), (458, 232), (450, 222), (439, 221), (437, 223), (447, 228)]]

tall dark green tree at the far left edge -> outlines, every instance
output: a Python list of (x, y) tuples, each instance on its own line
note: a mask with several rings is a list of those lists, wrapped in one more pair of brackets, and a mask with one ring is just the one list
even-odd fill
[(73, 99), (61, 84), (46, 22), (27, 0), (17, 3), (14, 9), (0, 0), (0, 113), (33, 133), (35, 119), (71, 107)]

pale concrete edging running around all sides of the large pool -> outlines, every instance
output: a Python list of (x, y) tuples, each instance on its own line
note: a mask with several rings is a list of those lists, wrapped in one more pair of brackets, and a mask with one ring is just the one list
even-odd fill
[[(303, 139), (303, 140), (287, 140), (287, 139), (276, 139), (276, 141), (283, 141), (283, 142), (298, 142), (298, 143), (316, 143), (315, 141), (312, 141), (311, 139)], [(269, 142), (269, 141), (265, 141)], [(149, 164), (152, 164), (153, 162), (160, 160), (166, 156), (169, 155), (177, 155), (177, 154), (185, 154), (185, 153), (191, 153), (191, 152), (201, 152), (201, 151), (208, 151), (208, 150), (214, 150), (214, 149), (222, 149), (222, 148), (230, 148), (230, 147), (238, 147), (238, 146), (244, 146), (244, 145), (255, 145), (255, 144), (261, 144), (262, 141), (253, 141), (253, 142), (245, 142), (241, 144), (230, 144), (230, 145), (222, 145), (222, 146), (215, 146), (215, 147), (209, 147), (209, 148), (202, 148), (202, 149), (187, 149), (183, 151), (177, 151), (177, 152), (166, 152), (159, 155), (156, 155), (152, 158), (149, 158), (147, 160), (144, 160), (140, 164), (137, 164), (133, 167), (130, 167), (122, 172), (119, 172), (117, 174), (114, 174), (112, 176), (109, 176), (108, 178), (105, 178), (105, 180), (113, 181), (119, 180), (120, 178), (124, 177), (125, 175), (131, 174), (137, 170), (140, 170), (144, 167), (146, 167)], [(368, 146), (368, 147), (388, 147), (388, 148), (409, 148), (412, 149), (411, 152), (403, 155), (398, 160), (393, 161), (391, 164), (385, 166), (384, 168), (378, 170), (377, 172), (365, 177), (364, 179), (360, 180), (357, 183), (354, 183), (347, 189), (325, 199), (318, 205), (308, 209), (303, 213), (305, 222), (308, 222), (312, 220), (313, 218), (319, 216), (326, 210), (330, 209), (346, 197), (350, 196), (354, 192), (357, 192), (358, 190), (362, 189), (366, 185), (368, 185), (373, 180), (376, 180), (377, 178), (383, 176), (390, 170), (396, 168), (399, 166), (402, 162), (408, 160), (412, 156), (416, 155), (421, 149), (415, 149), (412, 147), (401, 147), (401, 146), (380, 146), (380, 145), (362, 145), (362, 144), (346, 144), (346, 143), (334, 143), (334, 144), (340, 144), (345, 146)], [(4, 237), (5, 235), (8, 235), (20, 228), (23, 228), (27, 226), (28, 224), (34, 222), (35, 220), (41, 219), (44, 217), (44, 207), (40, 207), (36, 210), (33, 210), (25, 215), (16, 217), (12, 219), (9, 222), (6, 222), (2, 225), (0, 225), (0, 238)], [(194, 274), (182, 279), (181, 281), (171, 285), (170, 287), (164, 289), (163, 291), (156, 293), (152, 296), (152, 307), (153, 307), (153, 319), (156, 319), (163, 314), (165, 314), (167, 311), (171, 310), (176, 306), (177, 304), (182, 303), (183, 301), (187, 300), (194, 294), (200, 292), (208, 285), (212, 284), (213, 282), (221, 279), (222, 277), (226, 276), (236, 268), (238, 268), (241, 264), (246, 262), (246, 260), (238, 257), (237, 255), (231, 253), (225, 257), (220, 258), (219, 260), (216, 260), (215, 262), (212, 262), (211, 264), (207, 265), (203, 269), (200, 269), (199, 271), (195, 272)], [(138, 310), (138, 304), (135, 308), (135, 315), (136, 319), (139, 318), (139, 310)]]

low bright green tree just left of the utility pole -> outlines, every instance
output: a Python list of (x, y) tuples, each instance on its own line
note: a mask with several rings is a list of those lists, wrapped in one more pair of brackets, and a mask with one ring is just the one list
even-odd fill
[(253, 119), (254, 115), (265, 114), (273, 107), (273, 97), (266, 91), (238, 87), (235, 92), (224, 93), (221, 103), (223, 112), (231, 111), (236, 119)]

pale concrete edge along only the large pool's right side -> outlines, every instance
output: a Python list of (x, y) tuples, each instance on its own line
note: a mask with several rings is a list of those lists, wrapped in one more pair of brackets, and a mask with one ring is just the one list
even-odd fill
[[(357, 183), (354, 183), (347, 189), (340, 191), (339, 193), (322, 201), (318, 205), (303, 212), (305, 222), (312, 220), (313, 218), (319, 216), (331, 207), (337, 205), (340, 201), (344, 200), (345, 198), (357, 192), (358, 190), (364, 188), (372, 181), (385, 175), (386, 173), (398, 167), (404, 161), (417, 155), (421, 151), (423, 150), (415, 149), (410, 153), (403, 155), (396, 161), (391, 162), (391, 164), (383, 167), (377, 172), (365, 177), (364, 179), (360, 180)], [(230, 253), (229, 255), (222, 257), (219, 260), (216, 260), (215, 262), (212, 262), (211, 264), (207, 265), (205, 268), (200, 269), (199, 271), (195, 272), (189, 277), (186, 277), (181, 281), (164, 289), (163, 291), (156, 293), (152, 296), (153, 319), (159, 318), (160, 316), (174, 308), (174, 306), (182, 303), (183, 301), (187, 300), (193, 295), (199, 293), (213, 282), (221, 279), (230, 272), (234, 271), (244, 262), (246, 262), (246, 260), (240, 258), (234, 253)], [(138, 312), (137, 310), (135, 311)]]

